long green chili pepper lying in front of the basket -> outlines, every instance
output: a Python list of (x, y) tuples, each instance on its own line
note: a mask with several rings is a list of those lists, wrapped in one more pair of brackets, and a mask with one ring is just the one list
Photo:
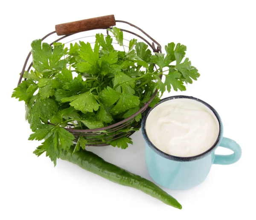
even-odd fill
[(146, 180), (145, 178), (133, 174), (116, 165), (108, 163), (93, 152), (83, 150), (73, 153), (73, 150), (74, 147), (70, 147), (70, 150), (62, 153), (60, 158), (71, 163), (75, 163), (81, 168), (93, 172), (114, 183), (119, 183), (124, 186), (130, 186), (135, 189), (139, 189), (140, 191), (143, 191), (146, 194), (161, 200), (163, 203), (166, 203), (169, 206), (173, 206), (177, 209), (182, 208), (180, 203), (178, 203), (174, 197), (167, 194), (151, 181)]

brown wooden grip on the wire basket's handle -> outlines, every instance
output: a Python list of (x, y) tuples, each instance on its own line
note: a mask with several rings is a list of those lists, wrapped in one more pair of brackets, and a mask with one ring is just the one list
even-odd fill
[(116, 20), (113, 14), (102, 17), (94, 17), (85, 20), (78, 20), (64, 24), (55, 25), (57, 35), (75, 34), (81, 31), (108, 28), (115, 26)]

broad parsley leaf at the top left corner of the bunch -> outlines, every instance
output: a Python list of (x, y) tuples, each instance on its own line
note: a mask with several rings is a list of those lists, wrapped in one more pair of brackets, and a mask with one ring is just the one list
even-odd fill
[(31, 43), (33, 66), (38, 72), (43, 73), (44, 77), (48, 77), (53, 71), (60, 71), (67, 64), (67, 60), (61, 60), (64, 56), (64, 44), (55, 43), (52, 47), (41, 42), (39, 39)]

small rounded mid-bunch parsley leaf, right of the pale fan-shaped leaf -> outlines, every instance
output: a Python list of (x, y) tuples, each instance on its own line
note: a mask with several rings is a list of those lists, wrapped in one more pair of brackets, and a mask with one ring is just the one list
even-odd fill
[(112, 106), (114, 103), (117, 102), (117, 100), (119, 100), (120, 96), (120, 92), (115, 91), (111, 87), (107, 86), (107, 88), (104, 88), (104, 90), (102, 90), (99, 99), (105, 106)]

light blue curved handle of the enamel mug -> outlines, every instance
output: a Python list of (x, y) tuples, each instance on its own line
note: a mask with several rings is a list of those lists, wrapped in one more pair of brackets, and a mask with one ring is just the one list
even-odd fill
[(239, 144), (236, 143), (236, 141), (227, 137), (223, 137), (219, 146), (230, 149), (234, 153), (230, 155), (215, 154), (215, 159), (213, 161), (214, 164), (228, 165), (236, 163), (236, 161), (240, 159), (242, 150)]

